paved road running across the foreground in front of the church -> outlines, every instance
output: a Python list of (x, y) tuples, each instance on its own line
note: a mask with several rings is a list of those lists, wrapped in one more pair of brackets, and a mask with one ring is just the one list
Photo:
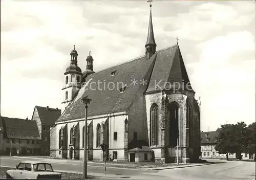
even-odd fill
[[(0, 165), (15, 167), (20, 161), (31, 160), (33, 159), (1, 156)], [(55, 170), (82, 172), (82, 162), (79, 161), (48, 159), (40, 161), (50, 161)], [(124, 169), (123, 165), (115, 165), (115, 167), (107, 165), (107, 174), (113, 177), (117, 177), (117, 174), (119, 178), (140, 179), (255, 179), (255, 162), (225, 160), (214, 160), (214, 162), (216, 164), (165, 170)], [(99, 173), (104, 173), (104, 164), (88, 163), (88, 174)]]

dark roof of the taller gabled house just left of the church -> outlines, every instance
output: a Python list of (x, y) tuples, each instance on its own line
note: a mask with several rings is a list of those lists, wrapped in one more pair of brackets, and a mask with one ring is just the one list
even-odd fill
[(35, 106), (42, 124), (54, 125), (55, 121), (61, 115), (61, 110), (56, 108), (48, 108)]

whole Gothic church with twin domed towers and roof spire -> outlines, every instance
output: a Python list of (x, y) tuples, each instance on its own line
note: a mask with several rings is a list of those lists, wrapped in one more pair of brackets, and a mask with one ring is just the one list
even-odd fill
[[(178, 42), (156, 47), (151, 5), (144, 56), (94, 72), (90, 53), (82, 73), (74, 47), (63, 77), (66, 109), (50, 130), (52, 158), (83, 159), (81, 98), (88, 96), (88, 160), (131, 161), (129, 150), (142, 146), (153, 150), (155, 162), (177, 162), (177, 154), (180, 163), (199, 159), (200, 108)], [(100, 144), (108, 145), (105, 153)]]

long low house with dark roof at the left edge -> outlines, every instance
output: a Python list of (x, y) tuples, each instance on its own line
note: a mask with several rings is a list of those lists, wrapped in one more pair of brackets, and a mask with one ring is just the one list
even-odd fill
[(1, 155), (41, 153), (41, 138), (35, 121), (1, 116)]

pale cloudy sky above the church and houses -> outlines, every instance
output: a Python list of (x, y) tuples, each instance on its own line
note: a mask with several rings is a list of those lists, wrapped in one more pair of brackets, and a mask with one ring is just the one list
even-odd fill
[[(34, 106), (61, 107), (75, 44), (94, 71), (144, 55), (146, 1), (1, 1), (1, 116), (31, 119)], [(176, 44), (201, 130), (255, 121), (255, 1), (154, 1), (157, 50)]]

